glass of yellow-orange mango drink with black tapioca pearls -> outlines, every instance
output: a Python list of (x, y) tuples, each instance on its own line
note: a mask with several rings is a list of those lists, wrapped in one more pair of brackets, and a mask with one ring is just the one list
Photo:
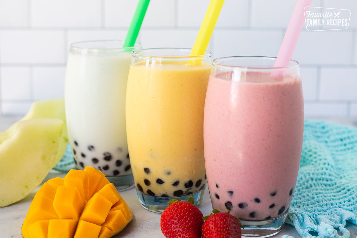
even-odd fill
[(126, 130), (141, 205), (162, 212), (172, 198), (198, 205), (206, 187), (203, 110), (211, 53), (157, 48), (132, 54)]

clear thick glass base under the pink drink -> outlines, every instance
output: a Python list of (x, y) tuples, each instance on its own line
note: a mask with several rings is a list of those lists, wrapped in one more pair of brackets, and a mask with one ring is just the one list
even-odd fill
[(283, 216), (264, 221), (243, 221), (242, 237), (270, 237), (281, 231), (284, 226), (287, 213)]

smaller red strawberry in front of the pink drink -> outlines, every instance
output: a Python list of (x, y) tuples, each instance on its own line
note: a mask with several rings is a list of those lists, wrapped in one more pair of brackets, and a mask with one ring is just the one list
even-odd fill
[(227, 212), (213, 209), (209, 216), (204, 217), (202, 226), (202, 238), (241, 238), (244, 228), (237, 217)]

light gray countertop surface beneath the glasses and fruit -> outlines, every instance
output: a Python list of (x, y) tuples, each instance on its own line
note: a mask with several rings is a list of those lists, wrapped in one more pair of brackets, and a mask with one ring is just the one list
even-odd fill
[[(6, 130), (11, 124), (18, 120), (20, 117), (0, 117), (0, 131)], [(318, 118), (322, 119), (322, 118)], [(357, 120), (351, 120), (347, 118), (331, 119), (332, 122), (338, 122), (345, 125), (356, 125)], [(58, 173), (56, 171), (50, 171), (44, 182), (53, 177), (64, 177), (65, 174)], [(40, 185), (41, 186), (41, 185)], [(40, 187), (39, 186), (39, 187)], [(37, 187), (26, 198), (19, 202), (11, 204), (7, 207), (0, 208), (0, 238), (21, 238), (21, 226), (25, 219), (29, 206), (34, 198), (35, 193), (39, 189)], [(135, 188), (131, 188), (127, 191), (120, 193), (125, 199), (129, 207), (134, 213), (134, 219), (129, 225), (119, 234), (114, 236), (115, 238), (164, 238), (164, 235), (160, 230), (160, 214), (150, 212), (141, 207), (139, 200), (137, 199)], [(204, 215), (209, 214), (212, 211), (210, 197), (208, 191), (203, 197), (203, 201), (199, 206)], [(346, 228), (351, 232), (351, 238), (357, 236), (357, 226), (350, 222), (347, 222)], [(300, 237), (296, 229), (293, 226), (285, 224), (282, 231), (274, 237), (281, 237), (282, 235), (293, 236), (295, 238)]]

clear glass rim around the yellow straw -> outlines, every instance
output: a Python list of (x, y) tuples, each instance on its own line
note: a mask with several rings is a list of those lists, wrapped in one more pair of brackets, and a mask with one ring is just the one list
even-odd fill
[(131, 55), (133, 57), (136, 58), (140, 58), (140, 59), (149, 59), (149, 60), (180, 60), (180, 59), (197, 59), (197, 58), (209, 58), (212, 56), (211, 51), (206, 50), (205, 54), (203, 55), (195, 55), (195, 56), (152, 56), (152, 55), (145, 55), (145, 54), (139, 54), (139, 52), (141, 51), (149, 51), (149, 50), (176, 50), (176, 51), (188, 51), (191, 52), (191, 48), (175, 48), (175, 47), (159, 47), (159, 48), (145, 48), (145, 49), (138, 49), (138, 50), (134, 50)]

